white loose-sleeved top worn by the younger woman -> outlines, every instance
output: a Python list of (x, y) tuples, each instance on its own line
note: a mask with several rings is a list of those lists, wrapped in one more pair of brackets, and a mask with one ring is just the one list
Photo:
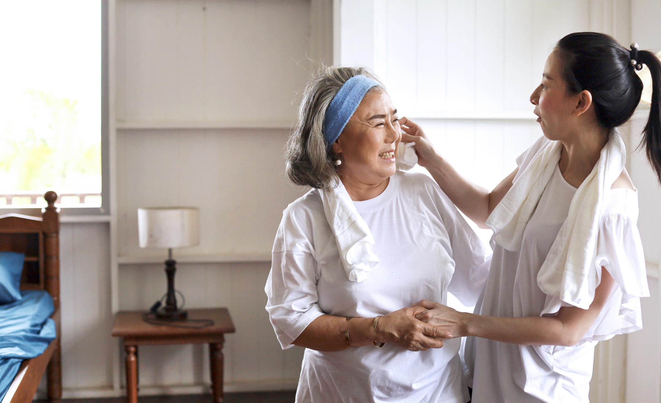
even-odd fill
[[(537, 141), (517, 159), (519, 172), (542, 144)], [(511, 252), (492, 239), (491, 268), (475, 313), (508, 317), (541, 314), (547, 295), (537, 285), (537, 273), (567, 217), (575, 192), (556, 166), (525, 226), (520, 250)], [(601, 314), (572, 347), (519, 346), (467, 338), (469, 371), (474, 366), (473, 403), (588, 402), (594, 346), (599, 340), (642, 328), (640, 300), (633, 297), (649, 295), (636, 227), (638, 195), (629, 189), (611, 189), (604, 197), (595, 264), (604, 266), (616, 283)]]

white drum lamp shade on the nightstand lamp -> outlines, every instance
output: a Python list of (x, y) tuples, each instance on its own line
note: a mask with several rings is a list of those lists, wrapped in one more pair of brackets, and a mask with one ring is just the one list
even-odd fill
[(141, 248), (181, 248), (200, 244), (200, 210), (197, 207), (147, 207), (137, 209)]

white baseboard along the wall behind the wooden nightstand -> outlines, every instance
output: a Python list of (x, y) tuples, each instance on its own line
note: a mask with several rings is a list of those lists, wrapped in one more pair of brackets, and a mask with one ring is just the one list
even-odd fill
[[(224, 392), (270, 392), (273, 390), (296, 390), (297, 379), (268, 379), (266, 381), (228, 382), (223, 386)], [(140, 386), (139, 396), (172, 395), (172, 394), (210, 394), (211, 385), (166, 385)], [(111, 387), (100, 388), (64, 388), (63, 399), (80, 398), (110, 398), (125, 396), (124, 388), (114, 390)], [(45, 399), (45, 392), (38, 391), (35, 399)]]

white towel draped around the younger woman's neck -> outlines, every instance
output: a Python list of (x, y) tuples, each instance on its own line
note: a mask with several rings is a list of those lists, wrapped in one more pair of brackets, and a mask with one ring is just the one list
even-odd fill
[[(496, 205), (486, 225), (503, 248), (521, 248), (525, 225), (560, 161), (561, 141), (547, 140)], [(549, 297), (542, 314), (555, 314), (563, 303), (588, 309), (600, 276), (595, 266), (603, 197), (624, 169), (626, 149), (617, 129), (609, 133), (600, 159), (580, 185), (546, 260), (537, 285)]]

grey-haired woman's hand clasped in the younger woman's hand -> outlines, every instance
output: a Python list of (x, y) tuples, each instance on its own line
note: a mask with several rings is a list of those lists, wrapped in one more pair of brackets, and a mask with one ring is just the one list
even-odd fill
[(381, 316), (376, 328), (377, 340), (410, 351), (442, 348), (443, 340), (452, 338), (451, 332), (416, 319), (416, 314), (423, 311), (426, 309), (410, 307)]

